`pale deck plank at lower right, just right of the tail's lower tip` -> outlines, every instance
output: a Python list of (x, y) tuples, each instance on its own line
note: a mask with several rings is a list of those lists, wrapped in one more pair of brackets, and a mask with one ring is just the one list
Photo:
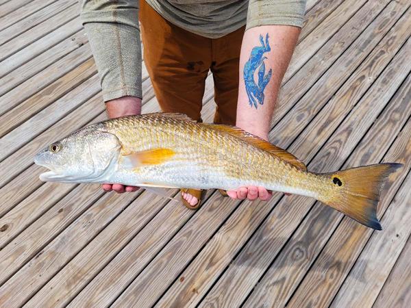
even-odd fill
[[(388, 207), (384, 233), (374, 232), (331, 307), (371, 307), (411, 233), (411, 174)], [(408, 286), (409, 287), (409, 286)], [(410, 303), (408, 303), (410, 304)]]

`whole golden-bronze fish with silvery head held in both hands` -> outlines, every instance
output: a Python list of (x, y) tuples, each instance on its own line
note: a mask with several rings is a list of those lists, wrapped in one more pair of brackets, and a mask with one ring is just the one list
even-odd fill
[(121, 183), (145, 188), (267, 190), (315, 198), (382, 230), (377, 203), (402, 164), (316, 173), (297, 157), (229, 125), (197, 123), (184, 114), (123, 116), (83, 127), (34, 157), (42, 181)]

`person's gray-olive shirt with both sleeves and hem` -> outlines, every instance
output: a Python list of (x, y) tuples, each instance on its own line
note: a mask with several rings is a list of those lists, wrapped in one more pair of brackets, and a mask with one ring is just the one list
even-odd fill
[[(142, 97), (139, 0), (82, 0), (82, 23), (99, 70), (104, 101)], [(207, 38), (247, 25), (301, 27), (306, 0), (147, 0), (167, 21)]]

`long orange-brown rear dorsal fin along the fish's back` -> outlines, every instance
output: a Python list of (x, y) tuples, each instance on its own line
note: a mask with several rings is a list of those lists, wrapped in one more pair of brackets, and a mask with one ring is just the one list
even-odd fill
[(252, 144), (259, 149), (275, 155), (275, 157), (284, 160), (284, 162), (288, 162), (288, 164), (291, 164), (304, 171), (307, 170), (307, 166), (291, 153), (279, 148), (278, 146), (275, 146), (274, 144), (271, 144), (270, 142), (267, 142), (266, 140), (254, 136), (251, 133), (247, 133), (247, 131), (244, 131), (238, 127), (210, 123), (199, 123), (199, 125), (204, 125), (206, 127), (210, 127), (211, 129), (228, 133), (231, 136), (244, 140), (245, 142), (248, 142), (249, 144)]

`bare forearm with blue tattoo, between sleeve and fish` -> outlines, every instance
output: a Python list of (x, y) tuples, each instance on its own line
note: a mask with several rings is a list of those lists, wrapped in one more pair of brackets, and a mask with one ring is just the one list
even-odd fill
[(264, 25), (245, 31), (240, 53), (236, 125), (267, 139), (282, 78), (299, 27)]

